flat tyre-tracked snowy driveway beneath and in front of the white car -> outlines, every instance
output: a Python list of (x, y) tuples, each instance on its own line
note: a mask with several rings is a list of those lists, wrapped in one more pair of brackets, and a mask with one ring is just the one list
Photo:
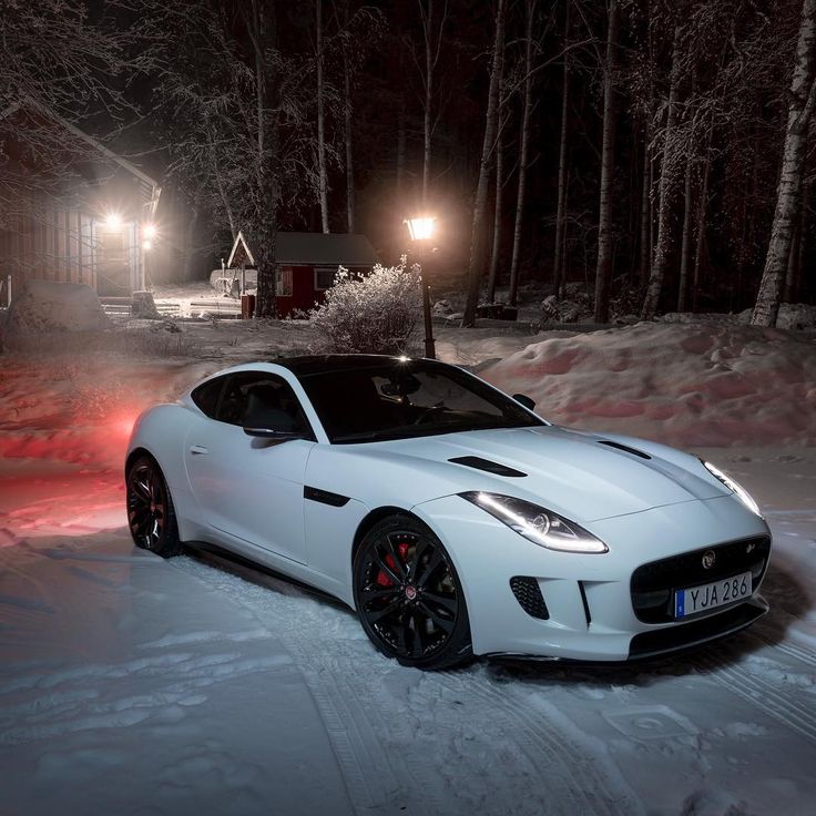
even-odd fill
[(7, 517), (0, 814), (812, 814), (813, 460), (720, 451), (767, 499), (773, 611), (632, 666), (407, 670), (285, 581)]

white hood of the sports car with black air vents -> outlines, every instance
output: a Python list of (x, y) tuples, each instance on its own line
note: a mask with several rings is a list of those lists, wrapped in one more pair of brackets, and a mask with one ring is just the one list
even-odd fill
[[(575, 521), (731, 494), (687, 453), (641, 439), (557, 426), (466, 431), (375, 442), (365, 448), (366, 458), (401, 461), (427, 472), (428, 491), (438, 491), (441, 478), (448, 482), (448, 492), (501, 492)], [(501, 476), (450, 462), (462, 457), (488, 460), (524, 476)], [(421, 493), (422, 486), (414, 486), (414, 491)]]

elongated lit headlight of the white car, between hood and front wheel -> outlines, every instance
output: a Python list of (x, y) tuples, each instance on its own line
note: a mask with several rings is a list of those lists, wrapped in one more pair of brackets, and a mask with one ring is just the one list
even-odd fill
[(472, 490), (459, 493), (533, 544), (561, 552), (609, 552), (591, 532), (563, 516), (522, 499)]

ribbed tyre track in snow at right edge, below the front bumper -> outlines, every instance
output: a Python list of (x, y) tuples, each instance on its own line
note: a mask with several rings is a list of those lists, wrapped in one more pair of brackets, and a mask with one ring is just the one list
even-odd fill
[(816, 712), (808, 704), (781, 692), (777, 685), (768, 681), (746, 674), (744, 670), (723, 665), (713, 657), (698, 657), (693, 665), (717, 685), (816, 745)]

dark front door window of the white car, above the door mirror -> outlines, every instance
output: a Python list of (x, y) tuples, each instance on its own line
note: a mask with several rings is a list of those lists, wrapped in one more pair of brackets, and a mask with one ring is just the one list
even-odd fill
[(215, 418), (243, 428), (268, 428), (314, 438), (289, 384), (265, 371), (232, 375)]

